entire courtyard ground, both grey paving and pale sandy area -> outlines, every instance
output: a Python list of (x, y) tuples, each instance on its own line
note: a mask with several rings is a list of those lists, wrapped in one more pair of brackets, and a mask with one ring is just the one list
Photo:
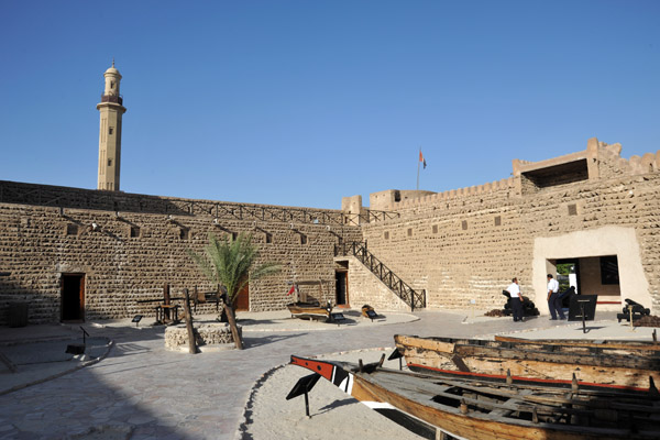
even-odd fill
[(8, 354), (19, 373), (0, 371), (0, 439), (334, 440), (356, 429), (367, 440), (414, 438), (324, 381), (310, 394), (308, 419), (302, 398), (285, 399), (307, 374), (287, 365), (290, 354), (371, 361), (392, 350), (396, 333), (651, 340), (653, 331), (618, 323), (614, 312), (597, 312), (586, 333), (579, 322), (541, 316), (514, 323), (472, 310), (386, 312), (373, 322), (346, 310), (351, 321), (340, 326), (287, 315), (239, 314), (245, 350), (194, 355), (165, 350), (164, 328), (146, 318), (140, 327), (86, 323), (96, 359), (51, 362), (38, 360), (61, 355), (63, 341), (81, 337), (79, 326), (0, 328), (0, 350), (21, 353)]

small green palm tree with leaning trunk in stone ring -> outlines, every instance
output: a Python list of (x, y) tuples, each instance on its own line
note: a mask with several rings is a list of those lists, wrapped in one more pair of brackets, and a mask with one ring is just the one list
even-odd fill
[(243, 340), (233, 311), (239, 292), (250, 280), (279, 272), (279, 266), (275, 263), (262, 263), (253, 267), (258, 258), (258, 248), (252, 243), (252, 235), (243, 232), (233, 241), (229, 237), (218, 239), (211, 233), (204, 251), (204, 255), (193, 251), (188, 253), (210, 282), (227, 288), (229, 300), (224, 302), (224, 311), (237, 349), (243, 350)]

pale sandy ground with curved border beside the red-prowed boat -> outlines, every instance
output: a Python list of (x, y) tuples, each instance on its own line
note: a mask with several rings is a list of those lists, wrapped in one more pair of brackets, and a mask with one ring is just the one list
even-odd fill
[[(326, 354), (319, 359), (364, 363), (376, 362), (394, 348)], [(398, 369), (398, 361), (385, 361), (384, 366)], [(244, 439), (337, 440), (344, 438), (346, 426), (356, 427), (361, 440), (413, 440), (418, 436), (367, 408), (330, 382), (320, 378), (309, 393), (310, 418), (305, 414), (305, 396), (286, 400), (296, 382), (311, 374), (294, 365), (277, 367), (264, 376), (253, 389), (248, 405), (248, 422), (241, 427)], [(364, 427), (369, 427), (365, 429)]]

